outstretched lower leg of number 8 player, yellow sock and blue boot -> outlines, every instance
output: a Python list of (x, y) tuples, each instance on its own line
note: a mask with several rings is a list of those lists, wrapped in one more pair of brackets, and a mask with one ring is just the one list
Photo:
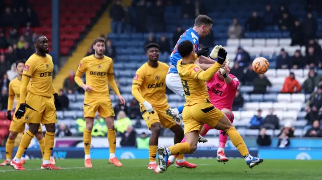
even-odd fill
[[(211, 124), (209, 124), (211, 126)], [(231, 142), (233, 145), (236, 146), (240, 154), (245, 158), (246, 164), (253, 168), (255, 165), (258, 165), (263, 162), (262, 158), (253, 157), (249, 154), (249, 151), (246, 147), (246, 144), (237, 131), (237, 129), (232, 125), (230, 120), (226, 115), (224, 115), (221, 120), (215, 125), (215, 129), (222, 130), (230, 137)]]

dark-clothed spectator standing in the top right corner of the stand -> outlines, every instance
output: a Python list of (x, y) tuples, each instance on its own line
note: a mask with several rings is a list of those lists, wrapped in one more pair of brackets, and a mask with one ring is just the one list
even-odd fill
[(313, 18), (312, 13), (307, 13), (307, 18), (303, 20), (304, 43), (306, 44), (311, 37), (316, 37), (318, 29), (317, 20)]

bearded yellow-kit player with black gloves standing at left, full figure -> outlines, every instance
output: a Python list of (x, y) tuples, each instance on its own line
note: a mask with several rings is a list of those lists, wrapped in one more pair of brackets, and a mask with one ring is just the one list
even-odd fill
[[(50, 164), (50, 154), (54, 147), (57, 123), (55, 103), (56, 105), (59, 104), (58, 94), (52, 85), (54, 64), (52, 57), (47, 54), (49, 44), (45, 36), (37, 36), (34, 45), (36, 53), (26, 61), (21, 78), (20, 105), (15, 113), (17, 119), (24, 117), (24, 122), (29, 123), (29, 129), (22, 136), (16, 156), (10, 162), (10, 165), (16, 170), (25, 170), (20, 163), (21, 156), (32, 138), (37, 134), (41, 123), (46, 127), (44, 160), (41, 169), (59, 170), (60, 168)], [(31, 88), (27, 94), (27, 86), (31, 78)]]

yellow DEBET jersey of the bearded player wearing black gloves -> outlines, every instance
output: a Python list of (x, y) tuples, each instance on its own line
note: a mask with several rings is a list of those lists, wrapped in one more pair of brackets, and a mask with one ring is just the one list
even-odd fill
[(26, 61), (23, 71), (24, 76), (32, 78), (29, 93), (39, 96), (52, 96), (52, 76), (54, 71), (54, 63), (52, 57), (46, 54), (42, 57), (34, 53)]

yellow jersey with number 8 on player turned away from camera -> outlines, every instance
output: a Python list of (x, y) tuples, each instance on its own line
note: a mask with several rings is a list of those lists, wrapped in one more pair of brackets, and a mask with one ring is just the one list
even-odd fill
[(185, 106), (210, 102), (205, 80), (212, 77), (220, 67), (221, 65), (215, 63), (205, 72), (194, 63), (182, 63), (182, 60), (177, 62), (178, 74), (185, 92)]

